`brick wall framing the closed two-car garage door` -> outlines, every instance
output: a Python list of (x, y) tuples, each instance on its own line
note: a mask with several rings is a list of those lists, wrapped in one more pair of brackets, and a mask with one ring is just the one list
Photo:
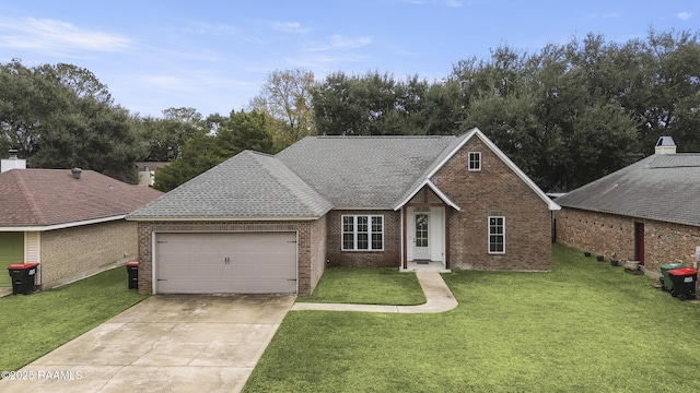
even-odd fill
[[(323, 218), (320, 219), (323, 221)], [(318, 261), (323, 261), (324, 248), (317, 242), (323, 237), (317, 235), (323, 230), (323, 222), (139, 222), (139, 291), (151, 294), (152, 286), (152, 234), (159, 231), (296, 231), (298, 233), (298, 267), (299, 295), (311, 295), (316, 286)], [(316, 271), (316, 273), (313, 273)], [(322, 273), (323, 274), (323, 271)], [(318, 275), (320, 277), (320, 275)]]

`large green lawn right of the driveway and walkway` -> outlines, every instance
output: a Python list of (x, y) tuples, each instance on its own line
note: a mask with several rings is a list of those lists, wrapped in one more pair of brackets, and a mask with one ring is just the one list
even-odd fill
[(561, 246), (552, 267), (444, 274), (444, 313), (292, 311), (244, 391), (700, 391), (700, 305)]

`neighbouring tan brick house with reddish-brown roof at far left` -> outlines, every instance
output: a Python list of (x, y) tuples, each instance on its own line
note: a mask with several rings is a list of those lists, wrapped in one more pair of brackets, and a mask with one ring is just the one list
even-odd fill
[(125, 216), (161, 194), (92, 170), (3, 171), (0, 284), (11, 285), (12, 263), (40, 263), (36, 284), (46, 289), (136, 259), (137, 225)]

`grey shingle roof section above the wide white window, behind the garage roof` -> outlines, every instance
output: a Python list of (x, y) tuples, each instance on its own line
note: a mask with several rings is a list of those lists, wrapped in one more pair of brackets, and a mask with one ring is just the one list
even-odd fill
[(277, 155), (336, 209), (394, 209), (455, 136), (311, 136)]

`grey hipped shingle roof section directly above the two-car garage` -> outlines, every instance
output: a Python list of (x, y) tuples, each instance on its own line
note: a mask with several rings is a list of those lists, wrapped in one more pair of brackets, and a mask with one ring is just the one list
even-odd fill
[(245, 151), (129, 218), (308, 218), (330, 209), (330, 202), (277, 158)]

